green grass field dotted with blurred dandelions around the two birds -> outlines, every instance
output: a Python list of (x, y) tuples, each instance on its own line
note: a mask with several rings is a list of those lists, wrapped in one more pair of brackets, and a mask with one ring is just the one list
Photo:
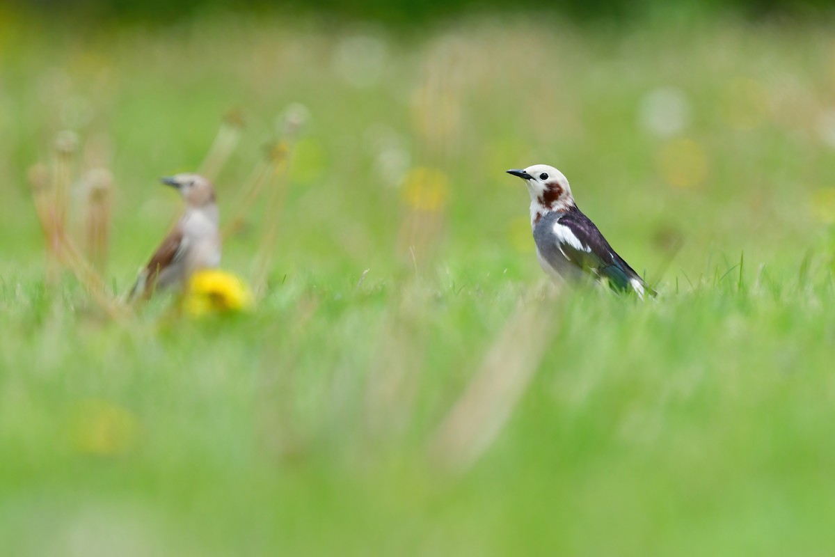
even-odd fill
[[(69, 29), (0, 14), (3, 554), (835, 551), (831, 26)], [(158, 177), (239, 110), (230, 218), (294, 103), (286, 196), (225, 242), (256, 283), (277, 226), (254, 311), (47, 280), (57, 134), (79, 245), (114, 176), (112, 297), (180, 207)], [(546, 284), (534, 163), (657, 300)]]

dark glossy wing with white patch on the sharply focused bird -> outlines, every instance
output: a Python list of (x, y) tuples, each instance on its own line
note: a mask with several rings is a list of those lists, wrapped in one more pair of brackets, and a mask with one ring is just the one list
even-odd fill
[(615, 290), (637, 291), (635, 284), (638, 284), (651, 296), (655, 295), (644, 279), (612, 249), (595, 223), (576, 206), (556, 220), (553, 231), (559, 251), (575, 266), (605, 278)]

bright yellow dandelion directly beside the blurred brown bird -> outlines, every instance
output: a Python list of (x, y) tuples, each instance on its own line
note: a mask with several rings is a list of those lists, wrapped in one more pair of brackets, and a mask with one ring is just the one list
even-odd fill
[(252, 306), (252, 293), (240, 279), (226, 271), (197, 271), (185, 293), (185, 311), (200, 317), (210, 313), (244, 311)]

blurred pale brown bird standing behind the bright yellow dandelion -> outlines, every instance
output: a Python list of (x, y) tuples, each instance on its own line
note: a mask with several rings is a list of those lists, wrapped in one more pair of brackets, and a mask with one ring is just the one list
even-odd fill
[(131, 299), (147, 299), (154, 291), (169, 287), (183, 288), (195, 271), (220, 266), (220, 212), (210, 181), (196, 174), (178, 174), (159, 181), (180, 192), (185, 213), (148, 265), (139, 271)]

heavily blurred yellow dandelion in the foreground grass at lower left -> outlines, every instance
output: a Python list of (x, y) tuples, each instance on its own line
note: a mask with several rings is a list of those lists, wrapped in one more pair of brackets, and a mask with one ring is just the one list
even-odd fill
[(72, 421), (73, 447), (79, 453), (111, 456), (136, 444), (139, 421), (129, 410), (104, 400), (78, 404)]

